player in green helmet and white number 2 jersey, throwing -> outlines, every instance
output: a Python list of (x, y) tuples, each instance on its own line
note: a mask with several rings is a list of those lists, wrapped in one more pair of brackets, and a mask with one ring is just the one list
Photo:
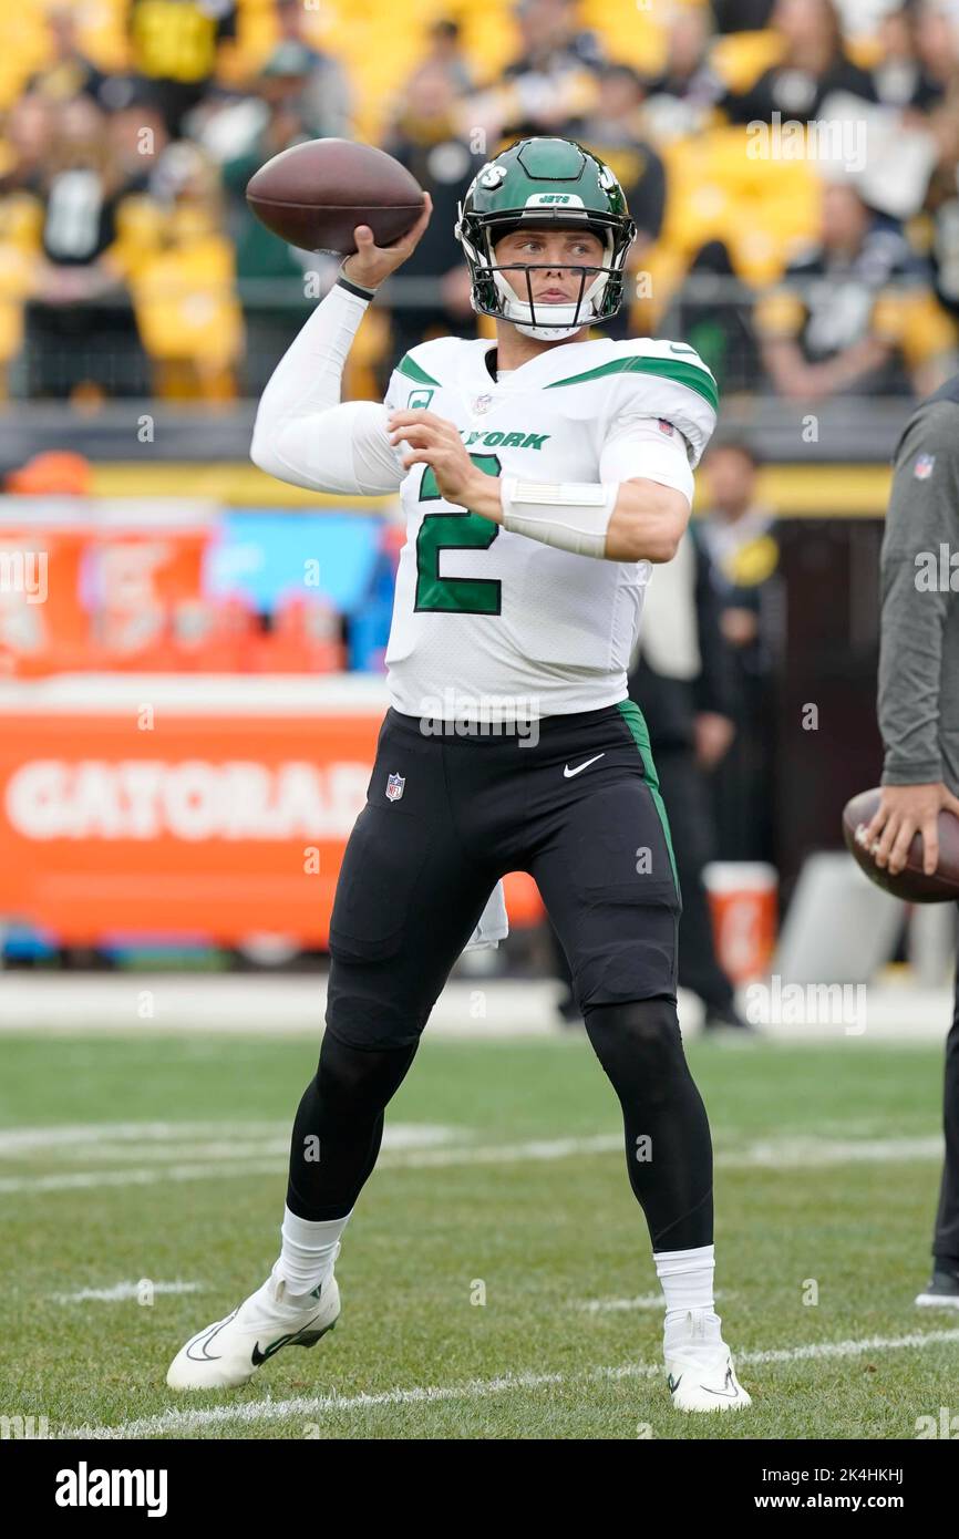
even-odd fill
[[(680, 897), (627, 665), (651, 566), (687, 526), (716, 382), (673, 342), (591, 339), (617, 312), (634, 225), (608, 166), (565, 139), (485, 165), (459, 211), (496, 340), (439, 337), (385, 403), (342, 402), (353, 337), (423, 234), (356, 254), (269, 380), (252, 459), (325, 492), (399, 491), (389, 709), (339, 877), (326, 1031), (291, 1145), (282, 1253), (168, 1384), (243, 1384), (340, 1311), (334, 1262), (383, 1110), (506, 871), (530, 871), (619, 1097), (627, 1170), (665, 1294), (682, 1411), (747, 1407), (713, 1300), (713, 1153), (676, 1016)], [(317, 1157), (319, 1154), (319, 1157)]]

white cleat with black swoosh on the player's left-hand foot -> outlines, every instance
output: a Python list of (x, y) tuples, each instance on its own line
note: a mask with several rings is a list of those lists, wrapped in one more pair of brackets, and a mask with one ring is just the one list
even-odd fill
[(288, 1302), (286, 1284), (271, 1274), (225, 1320), (214, 1320), (180, 1347), (166, 1382), (171, 1390), (236, 1390), (280, 1347), (312, 1347), (332, 1330), (339, 1313), (332, 1273), (296, 1304)]

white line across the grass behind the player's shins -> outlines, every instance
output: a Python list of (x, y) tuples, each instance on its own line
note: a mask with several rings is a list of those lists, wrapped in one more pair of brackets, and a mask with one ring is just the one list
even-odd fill
[[(453, 1130), (446, 1130), (453, 1131)], [(583, 1139), (533, 1139), (525, 1143), (457, 1145), (454, 1148), (389, 1148), (385, 1142), (377, 1168), (428, 1170), (456, 1165), (508, 1165), (533, 1160), (571, 1159), (582, 1154), (622, 1153), (620, 1133), (599, 1133)], [(228, 1154), (211, 1160), (183, 1160), (188, 1150), (175, 1148), (179, 1163), (131, 1167), (128, 1170), (51, 1171), (37, 1176), (0, 1177), (0, 1196), (23, 1191), (83, 1191), (108, 1187), (154, 1187), (162, 1182), (223, 1180), (269, 1176), (286, 1170), (286, 1151), (268, 1154), (257, 1145), (234, 1145)], [(259, 1157), (257, 1157), (259, 1156)], [(723, 1170), (814, 1170), (845, 1163), (904, 1163), (937, 1160), (942, 1139), (934, 1134), (911, 1139), (767, 1139), (743, 1150), (720, 1150), (716, 1165)]]

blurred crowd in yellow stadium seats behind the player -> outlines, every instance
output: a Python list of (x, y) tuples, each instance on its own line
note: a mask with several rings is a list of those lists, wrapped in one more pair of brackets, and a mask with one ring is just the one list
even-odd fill
[[(924, 392), (956, 368), (959, 0), (23, 0), (0, 63), (0, 389), (256, 394), (332, 259), (245, 188), (306, 139), (396, 155), (436, 217), (353, 394), (473, 334), (453, 237), (523, 134), (610, 162), (639, 239), (614, 336), (682, 334), (730, 392)], [(485, 322), (479, 322), (480, 328)]]

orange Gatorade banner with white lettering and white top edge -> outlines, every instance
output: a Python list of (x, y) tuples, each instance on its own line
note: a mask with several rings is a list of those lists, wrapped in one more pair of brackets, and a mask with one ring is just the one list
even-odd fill
[[(0, 688), (0, 916), (325, 948), (386, 709), (377, 677), (120, 676)], [(534, 920), (531, 879), (510, 917)]]

